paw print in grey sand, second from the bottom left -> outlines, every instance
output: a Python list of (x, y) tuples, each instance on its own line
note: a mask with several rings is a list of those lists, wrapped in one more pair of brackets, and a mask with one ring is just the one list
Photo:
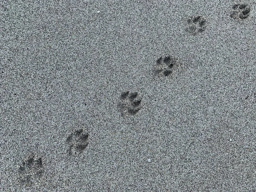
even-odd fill
[(81, 154), (88, 143), (88, 133), (84, 133), (83, 129), (76, 130), (67, 137), (67, 144), (69, 145), (68, 154)]

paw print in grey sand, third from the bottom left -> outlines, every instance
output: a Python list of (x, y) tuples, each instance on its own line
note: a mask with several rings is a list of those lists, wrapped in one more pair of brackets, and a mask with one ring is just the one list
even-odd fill
[(118, 104), (118, 108), (122, 115), (135, 115), (140, 111), (141, 99), (138, 99), (137, 96), (137, 92), (130, 93), (129, 91), (126, 91), (121, 94), (121, 100)]

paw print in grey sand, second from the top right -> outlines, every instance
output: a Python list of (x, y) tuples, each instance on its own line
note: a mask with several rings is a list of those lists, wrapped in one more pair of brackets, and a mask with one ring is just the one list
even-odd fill
[(187, 20), (188, 28), (186, 29), (192, 35), (197, 35), (204, 32), (206, 19), (202, 16), (189, 17)]

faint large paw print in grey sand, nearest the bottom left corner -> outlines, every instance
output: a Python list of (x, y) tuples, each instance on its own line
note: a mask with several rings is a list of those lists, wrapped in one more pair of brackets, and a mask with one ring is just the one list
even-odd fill
[(31, 186), (38, 182), (44, 173), (43, 160), (35, 154), (30, 154), (19, 167), (20, 183)]

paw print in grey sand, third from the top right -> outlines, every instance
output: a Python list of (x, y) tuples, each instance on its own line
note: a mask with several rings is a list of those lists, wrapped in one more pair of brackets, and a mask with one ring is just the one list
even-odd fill
[(169, 76), (172, 71), (173, 67), (176, 65), (177, 59), (171, 56), (166, 56), (164, 58), (160, 57), (157, 59), (155, 65), (155, 71), (162, 75), (162, 76)]

